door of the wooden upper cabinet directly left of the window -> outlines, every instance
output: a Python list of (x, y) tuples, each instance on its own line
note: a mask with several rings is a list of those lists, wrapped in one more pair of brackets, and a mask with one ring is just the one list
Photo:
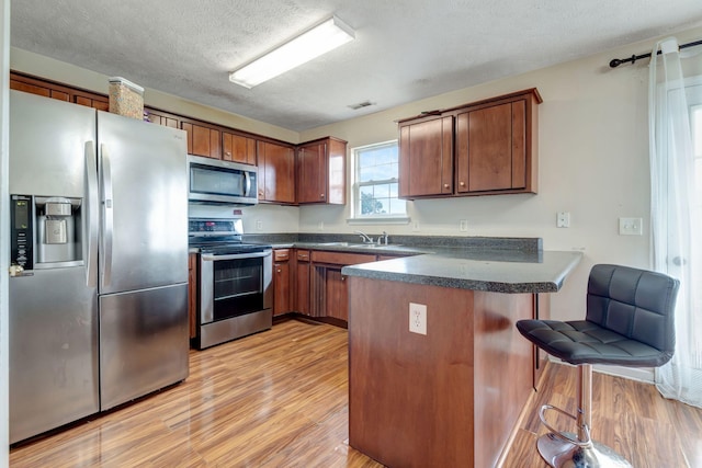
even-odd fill
[(297, 203), (327, 202), (327, 144), (297, 150)]

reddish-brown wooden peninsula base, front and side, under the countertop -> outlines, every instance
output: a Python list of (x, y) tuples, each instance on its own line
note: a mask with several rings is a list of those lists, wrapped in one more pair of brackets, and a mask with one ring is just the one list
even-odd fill
[[(347, 283), (350, 445), (387, 466), (494, 466), (532, 391), (514, 328), (532, 295)], [(427, 306), (427, 335), (409, 332), (409, 303)]]

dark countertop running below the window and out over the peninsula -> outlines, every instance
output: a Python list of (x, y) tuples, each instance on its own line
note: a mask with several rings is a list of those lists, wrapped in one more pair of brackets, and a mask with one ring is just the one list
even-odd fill
[[(377, 238), (377, 236), (372, 236)], [(576, 251), (544, 251), (541, 238), (390, 236), (388, 246), (363, 244), (358, 235), (246, 235), (274, 249), (314, 249), (407, 255), (344, 266), (347, 276), (494, 293), (555, 293), (582, 258)]]

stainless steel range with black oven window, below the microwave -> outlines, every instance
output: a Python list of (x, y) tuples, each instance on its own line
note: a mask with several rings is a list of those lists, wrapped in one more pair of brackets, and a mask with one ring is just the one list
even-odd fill
[[(192, 216), (189, 243), (200, 258), (199, 350), (268, 330), (273, 322), (273, 250), (241, 242), (241, 212)], [(227, 212), (226, 209), (224, 210)]]

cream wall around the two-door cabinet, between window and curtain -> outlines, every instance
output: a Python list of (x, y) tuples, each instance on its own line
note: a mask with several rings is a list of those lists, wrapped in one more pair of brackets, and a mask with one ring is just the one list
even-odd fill
[[(676, 34), (680, 43), (699, 39), (702, 27)], [(415, 201), (408, 204), (410, 225), (369, 226), (397, 235), (541, 237), (545, 250), (581, 250), (584, 261), (564, 288), (553, 295), (557, 319), (585, 315), (589, 269), (595, 263), (649, 266), (649, 172), (647, 137), (648, 60), (609, 68), (612, 58), (652, 49), (654, 39), (604, 54), (438, 95), (339, 124), (304, 132), (301, 140), (333, 135), (349, 147), (397, 138), (395, 121), (421, 111), (445, 109), (529, 88), (537, 88), (537, 195), (500, 195)], [(382, 102), (382, 96), (373, 96)], [(570, 213), (571, 227), (556, 228), (556, 213)], [(299, 229), (350, 232), (349, 208), (301, 208)], [(641, 217), (643, 236), (619, 236), (619, 217)], [(419, 232), (414, 232), (414, 222)]]

